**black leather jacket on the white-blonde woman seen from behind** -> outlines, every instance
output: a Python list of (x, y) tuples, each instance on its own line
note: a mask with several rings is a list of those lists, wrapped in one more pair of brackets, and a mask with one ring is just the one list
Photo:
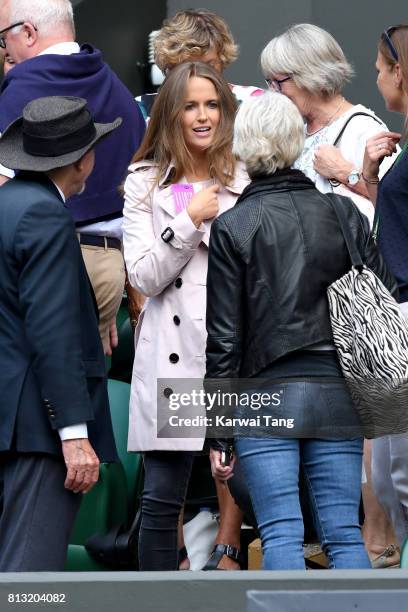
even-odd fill
[[(342, 198), (363, 261), (396, 293), (369, 224)], [(248, 378), (333, 342), (327, 287), (351, 262), (330, 203), (298, 170), (258, 176), (211, 228), (206, 378)]]

